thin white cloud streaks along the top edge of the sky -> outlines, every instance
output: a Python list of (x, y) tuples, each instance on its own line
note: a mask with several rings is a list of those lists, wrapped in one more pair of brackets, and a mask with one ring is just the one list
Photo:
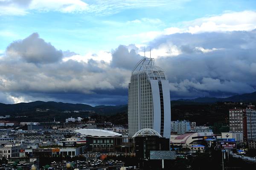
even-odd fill
[[(83, 0), (0, 0), (0, 15), (25, 15), (29, 13), (30, 10), (110, 15), (122, 12), (126, 9), (166, 5), (168, 5), (170, 9), (177, 9), (186, 1), (187, 0), (92, 0), (86, 1), (88, 2), (86, 3)], [(151, 20), (151, 22), (155, 21), (157, 20)]]

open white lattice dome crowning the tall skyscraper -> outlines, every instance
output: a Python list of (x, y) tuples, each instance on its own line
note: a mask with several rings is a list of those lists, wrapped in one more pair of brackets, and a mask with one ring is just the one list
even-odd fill
[(146, 72), (148, 78), (152, 80), (167, 80), (163, 69), (158, 66), (154, 66), (154, 58), (144, 57), (141, 59), (132, 70), (131, 75), (137, 74), (139, 72)]

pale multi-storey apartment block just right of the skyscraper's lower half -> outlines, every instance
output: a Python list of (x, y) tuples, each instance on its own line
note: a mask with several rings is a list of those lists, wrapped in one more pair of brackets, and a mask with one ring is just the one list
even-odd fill
[(177, 134), (183, 134), (190, 132), (190, 121), (171, 121), (171, 132), (177, 132)]

